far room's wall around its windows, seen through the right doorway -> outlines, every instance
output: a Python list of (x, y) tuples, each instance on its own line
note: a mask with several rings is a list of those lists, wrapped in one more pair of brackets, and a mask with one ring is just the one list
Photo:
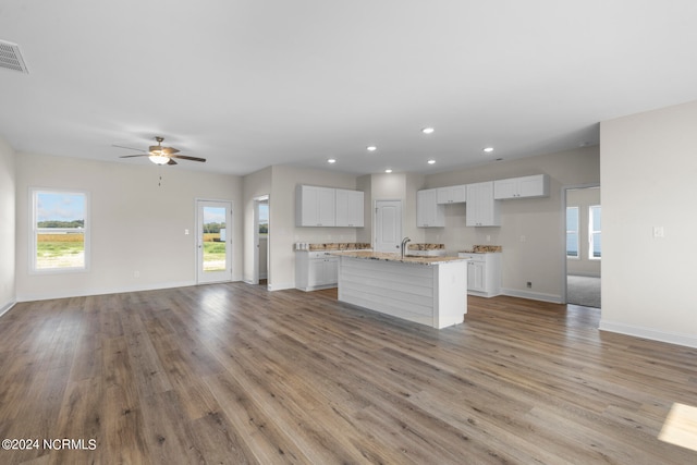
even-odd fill
[(566, 191), (566, 207), (578, 207), (578, 258), (566, 258), (566, 273), (600, 277), (601, 260), (588, 258), (588, 209), (600, 205), (600, 187)]

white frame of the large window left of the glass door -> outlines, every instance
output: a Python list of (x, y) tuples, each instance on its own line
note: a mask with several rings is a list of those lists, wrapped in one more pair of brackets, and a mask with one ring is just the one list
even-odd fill
[[(81, 195), (85, 201), (85, 218), (83, 219), (83, 244), (84, 244), (84, 262), (81, 267), (53, 267), (53, 268), (37, 268), (37, 236), (40, 233), (46, 232), (72, 232), (72, 228), (38, 228), (38, 212), (37, 201), (38, 196), (41, 194), (58, 194), (58, 195)], [(32, 187), (29, 188), (29, 247), (28, 247), (28, 260), (29, 260), (29, 274), (65, 274), (65, 273), (83, 273), (89, 271), (90, 262), (90, 198), (89, 192), (81, 189), (65, 189), (65, 188), (50, 188), (50, 187)]]

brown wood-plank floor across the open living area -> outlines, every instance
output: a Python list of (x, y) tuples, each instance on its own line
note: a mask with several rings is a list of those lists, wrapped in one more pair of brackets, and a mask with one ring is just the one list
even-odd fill
[(697, 350), (596, 309), (469, 297), (444, 330), (243, 283), (17, 304), (0, 318), (2, 464), (695, 464), (657, 436)]

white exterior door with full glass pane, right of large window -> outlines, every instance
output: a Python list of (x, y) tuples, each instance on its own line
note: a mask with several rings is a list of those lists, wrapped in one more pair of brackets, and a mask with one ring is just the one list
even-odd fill
[(197, 200), (197, 279), (199, 284), (232, 281), (232, 204)]

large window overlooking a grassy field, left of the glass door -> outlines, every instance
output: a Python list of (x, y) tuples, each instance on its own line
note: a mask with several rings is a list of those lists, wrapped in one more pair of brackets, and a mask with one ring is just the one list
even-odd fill
[(33, 272), (86, 270), (89, 250), (87, 194), (32, 192)]

